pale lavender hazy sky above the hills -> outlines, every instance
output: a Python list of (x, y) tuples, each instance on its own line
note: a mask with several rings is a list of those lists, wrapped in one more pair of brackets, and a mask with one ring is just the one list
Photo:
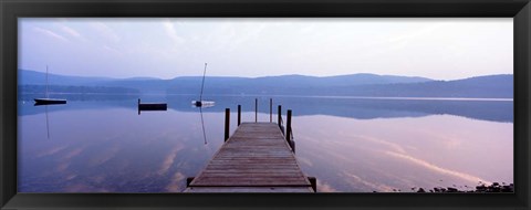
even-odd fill
[(171, 78), (513, 73), (511, 18), (20, 18), (19, 69)]

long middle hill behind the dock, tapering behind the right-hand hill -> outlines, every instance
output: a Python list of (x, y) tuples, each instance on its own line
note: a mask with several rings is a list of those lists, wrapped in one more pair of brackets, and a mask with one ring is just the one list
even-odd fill
[[(340, 76), (282, 75), (256, 78), (246, 77), (207, 77), (205, 93), (210, 94), (311, 94), (306, 88), (325, 90), (330, 87), (403, 84), (433, 81), (425, 77), (391, 76), (376, 74), (351, 74)], [(168, 93), (199, 93), (201, 77), (176, 77), (168, 86)], [(299, 91), (296, 91), (299, 90)], [(295, 92), (293, 92), (295, 91)]]

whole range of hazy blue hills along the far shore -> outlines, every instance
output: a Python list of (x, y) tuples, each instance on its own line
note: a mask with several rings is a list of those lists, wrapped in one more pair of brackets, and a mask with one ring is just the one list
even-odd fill
[[(43, 85), (45, 73), (19, 70), (19, 85)], [(140, 94), (199, 94), (201, 76), (173, 80), (108, 78), (49, 75), (51, 85), (104, 86), (137, 90)], [(263, 77), (207, 76), (206, 95), (319, 95), (381, 97), (513, 97), (513, 75), (487, 75), (455, 81), (417, 76), (350, 74), (337, 76), (281, 75)]]

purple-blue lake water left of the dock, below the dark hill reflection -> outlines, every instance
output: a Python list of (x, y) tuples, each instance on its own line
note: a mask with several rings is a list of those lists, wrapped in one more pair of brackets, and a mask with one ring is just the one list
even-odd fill
[(180, 191), (186, 181), (175, 178), (195, 176), (223, 136), (222, 118), (205, 114), (219, 139), (205, 145), (199, 112), (65, 108), (50, 116), (52, 141), (41, 140), (43, 114), (19, 116), (19, 191)]

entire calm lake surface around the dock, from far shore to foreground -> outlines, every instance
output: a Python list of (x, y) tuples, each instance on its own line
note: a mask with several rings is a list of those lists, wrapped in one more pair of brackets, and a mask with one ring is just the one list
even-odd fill
[[(225, 108), (254, 120), (256, 96), (148, 95), (166, 112), (137, 113), (137, 96), (63, 95), (66, 105), (19, 101), (20, 192), (180, 192), (223, 143)], [(283, 97), (296, 158), (320, 192), (412, 191), (513, 182), (513, 102), (448, 98)], [(258, 96), (269, 122), (270, 96)], [(201, 126), (205, 122), (205, 136)], [(206, 138), (205, 138), (206, 137)]]

